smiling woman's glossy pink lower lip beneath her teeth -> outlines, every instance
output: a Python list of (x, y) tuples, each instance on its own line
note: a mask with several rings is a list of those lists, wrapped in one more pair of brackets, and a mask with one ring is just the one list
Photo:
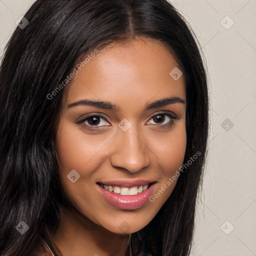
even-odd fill
[(149, 200), (150, 195), (153, 193), (154, 184), (150, 185), (146, 190), (141, 193), (137, 193), (136, 195), (116, 194), (104, 189), (100, 185), (97, 186), (102, 196), (110, 204), (120, 209), (135, 209), (141, 207)]

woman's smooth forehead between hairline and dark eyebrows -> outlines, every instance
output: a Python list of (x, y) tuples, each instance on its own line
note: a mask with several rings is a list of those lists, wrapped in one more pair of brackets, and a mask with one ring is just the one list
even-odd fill
[[(179, 96), (185, 99), (185, 81), (169, 72), (177, 63), (158, 41), (140, 37), (111, 43), (77, 69), (66, 95), (66, 104), (97, 98), (122, 104), (141, 104), (150, 99)], [(144, 99), (143, 101), (141, 99)]]

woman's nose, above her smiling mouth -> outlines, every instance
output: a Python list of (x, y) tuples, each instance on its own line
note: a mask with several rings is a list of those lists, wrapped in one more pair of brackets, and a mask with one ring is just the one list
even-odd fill
[(135, 129), (135, 125), (122, 131), (119, 129), (113, 140), (114, 151), (111, 164), (135, 173), (150, 164), (149, 148), (144, 134)]

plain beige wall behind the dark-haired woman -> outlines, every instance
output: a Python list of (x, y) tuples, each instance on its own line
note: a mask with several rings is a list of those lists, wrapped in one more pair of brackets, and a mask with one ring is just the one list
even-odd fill
[[(0, 55), (33, 2), (0, 0)], [(256, 0), (170, 2), (197, 35), (209, 75), (210, 142), (191, 256), (256, 255)]]

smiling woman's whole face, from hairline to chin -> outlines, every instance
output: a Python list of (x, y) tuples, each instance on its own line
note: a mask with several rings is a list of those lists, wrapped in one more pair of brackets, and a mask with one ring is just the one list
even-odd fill
[(56, 133), (63, 187), (114, 233), (147, 225), (177, 182), (186, 148), (185, 81), (169, 74), (177, 66), (165, 46), (137, 37), (99, 51), (69, 84)]

